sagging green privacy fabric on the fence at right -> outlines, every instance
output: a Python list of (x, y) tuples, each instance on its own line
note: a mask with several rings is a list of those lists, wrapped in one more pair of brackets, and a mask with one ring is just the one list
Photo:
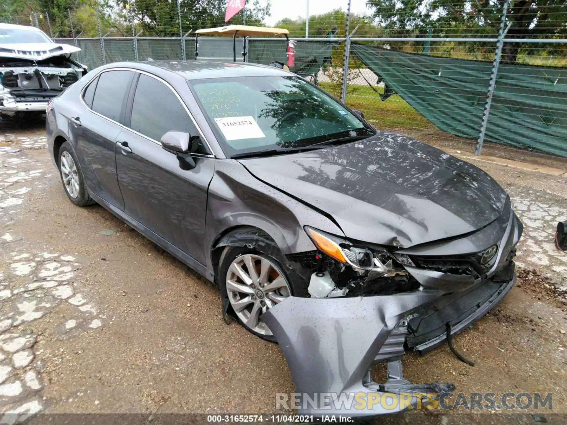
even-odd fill
[[(437, 128), (479, 136), (492, 62), (354, 43), (351, 52)], [(500, 65), (485, 140), (567, 157), (567, 69)]]

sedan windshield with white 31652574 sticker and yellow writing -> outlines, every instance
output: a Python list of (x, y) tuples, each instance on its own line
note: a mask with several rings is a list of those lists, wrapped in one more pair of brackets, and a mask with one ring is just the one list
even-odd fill
[(190, 80), (189, 86), (228, 156), (375, 134), (331, 96), (295, 76)]

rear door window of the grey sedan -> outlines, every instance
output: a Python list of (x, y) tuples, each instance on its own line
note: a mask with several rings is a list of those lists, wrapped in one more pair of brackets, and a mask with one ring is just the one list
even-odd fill
[(92, 110), (114, 121), (120, 121), (122, 104), (132, 71), (107, 71), (96, 84)]

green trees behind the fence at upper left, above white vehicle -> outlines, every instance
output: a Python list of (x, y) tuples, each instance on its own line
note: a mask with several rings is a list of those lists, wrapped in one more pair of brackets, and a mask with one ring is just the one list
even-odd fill
[[(218, 27), (225, 25), (226, 0), (180, 0), (181, 29)], [(37, 20), (48, 32), (46, 13), (53, 35), (71, 37), (73, 20), (75, 36), (98, 36), (98, 20), (101, 32), (112, 35), (131, 36), (132, 18), (134, 32), (142, 36), (179, 36), (179, 11), (177, 0), (5, 0), (0, 5), (0, 20), (3, 22), (34, 25), (30, 16), (37, 12)], [(244, 8), (248, 25), (261, 25), (270, 12), (270, 0), (261, 5), (259, 0), (249, 0)], [(229, 24), (242, 23), (242, 12)]]

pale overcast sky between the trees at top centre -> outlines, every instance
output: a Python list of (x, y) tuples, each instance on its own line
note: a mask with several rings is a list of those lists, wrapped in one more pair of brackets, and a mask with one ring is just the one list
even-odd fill
[[(273, 25), (283, 18), (295, 19), (298, 16), (305, 18), (306, 5), (307, 0), (272, 0), (272, 16), (266, 18), (266, 23)], [(346, 11), (348, 0), (310, 0), (309, 15), (320, 15), (339, 7)], [(366, 0), (352, 0), (350, 11), (356, 14), (369, 12), (366, 8)]]

